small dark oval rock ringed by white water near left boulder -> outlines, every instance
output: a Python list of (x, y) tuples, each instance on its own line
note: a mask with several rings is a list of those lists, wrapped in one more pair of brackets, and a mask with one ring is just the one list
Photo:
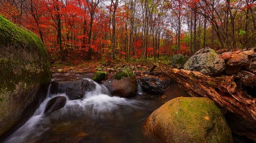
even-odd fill
[(46, 105), (44, 114), (48, 116), (52, 112), (63, 108), (66, 105), (66, 102), (67, 102), (67, 98), (63, 96), (59, 96), (51, 99)]

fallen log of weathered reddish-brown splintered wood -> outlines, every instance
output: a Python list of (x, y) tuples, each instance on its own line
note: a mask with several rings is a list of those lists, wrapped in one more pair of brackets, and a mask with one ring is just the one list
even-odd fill
[(240, 115), (247, 120), (256, 122), (255, 98), (247, 96), (237, 84), (233, 76), (210, 77), (198, 71), (165, 68), (160, 66), (166, 76), (176, 80), (179, 86), (193, 97), (205, 97), (218, 106)]

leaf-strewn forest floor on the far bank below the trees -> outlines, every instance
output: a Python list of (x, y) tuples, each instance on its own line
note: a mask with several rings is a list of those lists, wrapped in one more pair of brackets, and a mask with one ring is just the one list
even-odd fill
[[(166, 78), (160, 70), (156, 67), (153, 73), (148, 73), (148, 71), (153, 66), (155, 62), (154, 59), (137, 59), (130, 62), (126, 62), (124, 59), (117, 59), (115, 61), (110, 61), (107, 59), (102, 59), (101, 55), (94, 53), (92, 55), (93, 60), (84, 60), (87, 56), (87, 52), (83, 50), (72, 50), (69, 52), (66, 61), (60, 60), (60, 54), (56, 51), (49, 51), (51, 70), (52, 73), (94, 73), (98, 70), (108, 71), (109, 76), (114, 76), (122, 67), (129, 67), (134, 71), (136, 78), (140, 77), (158, 77), (160, 79)], [(165, 66), (166, 60), (157, 61)], [(146, 73), (147, 72), (147, 73)]]

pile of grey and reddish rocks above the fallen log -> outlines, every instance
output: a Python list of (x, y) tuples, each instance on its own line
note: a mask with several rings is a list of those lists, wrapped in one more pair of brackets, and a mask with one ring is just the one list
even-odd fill
[(221, 49), (215, 52), (209, 47), (199, 50), (190, 57), (184, 69), (199, 71), (209, 76), (236, 75), (236, 80), (247, 79), (256, 73), (256, 49)]

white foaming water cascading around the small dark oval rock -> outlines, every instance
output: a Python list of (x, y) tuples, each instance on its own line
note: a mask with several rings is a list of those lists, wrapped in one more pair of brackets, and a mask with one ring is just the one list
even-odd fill
[[(36, 142), (36, 137), (41, 136), (50, 129), (50, 118), (44, 115), (47, 103), (54, 97), (65, 96), (67, 98), (66, 105), (55, 111), (58, 112), (59, 118), (62, 116), (72, 116), (72, 114), (86, 115), (92, 118), (104, 118), (117, 110), (122, 111), (123, 106), (128, 108), (136, 108), (138, 101), (125, 99), (120, 97), (111, 97), (110, 92), (103, 85), (91, 79), (84, 79), (96, 84), (95, 89), (84, 93), (83, 99), (69, 100), (65, 93), (52, 94), (50, 83), (47, 91), (46, 99), (39, 105), (33, 116), (12, 135), (10, 135), (4, 143), (12, 142)], [(28, 141), (29, 140), (29, 141)]]

